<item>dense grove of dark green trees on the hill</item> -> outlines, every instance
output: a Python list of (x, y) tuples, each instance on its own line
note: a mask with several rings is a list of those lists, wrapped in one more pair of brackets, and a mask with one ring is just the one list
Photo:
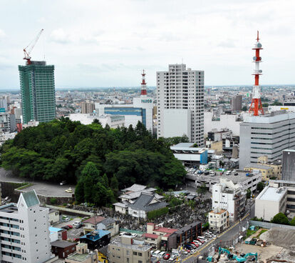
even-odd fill
[[(26, 128), (6, 142), (1, 166), (20, 177), (78, 182), (81, 201), (88, 202), (87, 195), (102, 186), (103, 192), (112, 189), (115, 194), (135, 182), (165, 189), (181, 183), (185, 169), (170, 151), (171, 143), (152, 137), (140, 122), (135, 128), (110, 129), (97, 121), (83, 125), (62, 118)], [(108, 199), (112, 198), (109, 194)]]

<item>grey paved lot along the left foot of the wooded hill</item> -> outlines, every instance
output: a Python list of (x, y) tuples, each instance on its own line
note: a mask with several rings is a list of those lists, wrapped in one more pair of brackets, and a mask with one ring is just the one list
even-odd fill
[(75, 187), (73, 185), (59, 185), (59, 182), (49, 183), (49, 182), (37, 182), (32, 179), (15, 177), (11, 172), (7, 172), (5, 169), (0, 168), (0, 182), (28, 182), (33, 184), (31, 187), (24, 188), (24, 192), (29, 192), (35, 189), (37, 194), (43, 194), (47, 197), (71, 197), (71, 193), (66, 193), (65, 190), (71, 187), (73, 193), (75, 192)]

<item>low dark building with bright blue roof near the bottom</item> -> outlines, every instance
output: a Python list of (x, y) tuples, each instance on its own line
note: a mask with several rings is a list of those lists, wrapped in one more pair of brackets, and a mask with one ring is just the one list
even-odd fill
[(110, 232), (106, 230), (95, 230), (80, 237), (80, 242), (86, 243), (89, 249), (98, 249), (110, 243)]

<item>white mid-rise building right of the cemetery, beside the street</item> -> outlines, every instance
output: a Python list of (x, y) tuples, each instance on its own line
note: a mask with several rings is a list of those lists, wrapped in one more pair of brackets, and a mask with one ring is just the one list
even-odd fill
[(241, 185), (227, 179), (220, 179), (212, 187), (212, 209), (223, 209), (229, 212), (229, 219), (236, 221), (245, 211), (246, 193)]

